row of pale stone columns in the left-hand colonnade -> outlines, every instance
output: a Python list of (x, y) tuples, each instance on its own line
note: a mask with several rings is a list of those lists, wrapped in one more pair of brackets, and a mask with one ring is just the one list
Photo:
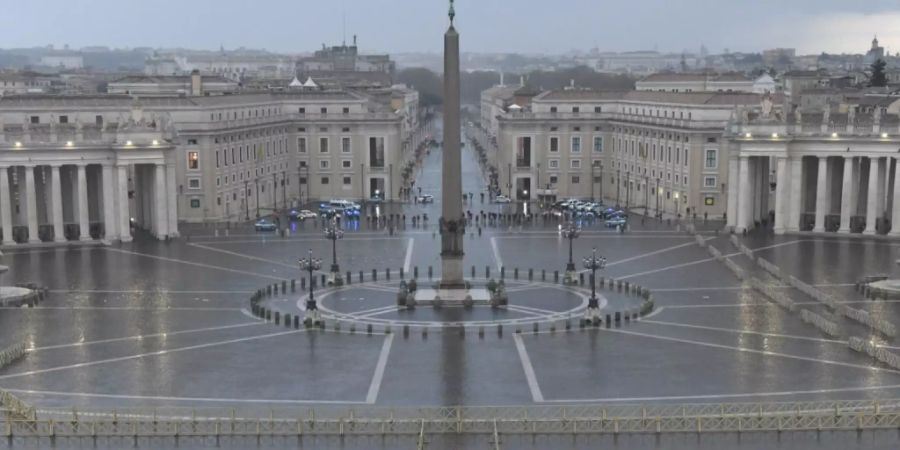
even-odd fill
[(177, 234), (175, 170), (164, 163), (0, 163), (4, 245)]

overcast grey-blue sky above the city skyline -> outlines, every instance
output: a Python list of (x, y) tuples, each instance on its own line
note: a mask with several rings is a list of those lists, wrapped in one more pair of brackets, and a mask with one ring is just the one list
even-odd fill
[[(0, 46), (439, 51), (446, 0), (5, 0)], [(900, 51), (898, 0), (457, 0), (463, 51)]]

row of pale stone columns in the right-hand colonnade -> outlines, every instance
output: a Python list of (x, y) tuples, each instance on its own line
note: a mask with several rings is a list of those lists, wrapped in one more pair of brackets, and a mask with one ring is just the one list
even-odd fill
[(728, 224), (900, 236), (900, 158), (741, 155), (729, 161)]

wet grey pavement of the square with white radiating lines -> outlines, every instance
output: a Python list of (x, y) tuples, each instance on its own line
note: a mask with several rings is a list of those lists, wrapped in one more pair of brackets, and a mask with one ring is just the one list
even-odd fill
[[(473, 212), (521, 208), (480, 202), (483, 176), (471, 146), (464, 155), (464, 190)], [(418, 169), (417, 187), (438, 194), (439, 150)], [(378, 212), (406, 215), (391, 233), (363, 219), (347, 224), (338, 242), (342, 271), (354, 274), (390, 268), (406, 273), (432, 266), (440, 275), (440, 211), (434, 204), (381, 205)], [(428, 214), (427, 226), (412, 226)], [(900, 372), (851, 352), (846, 336), (867, 331), (841, 322), (832, 338), (804, 324), (742, 286), (721, 263), (674, 226), (632, 218), (619, 234), (600, 223), (584, 224), (575, 242), (579, 262), (596, 247), (609, 264), (601, 275), (654, 290), (651, 317), (622, 327), (521, 335), (488, 332), (422, 336), (304, 331), (258, 322), (247, 311), (250, 293), (276, 281), (299, 279), (297, 258), (309, 249), (331, 263), (331, 243), (320, 223), (299, 223), (286, 237), (235, 226), (192, 227), (167, 243), (139, 238), (109, 247), (13, 249), (3, 283), (35, 282), (50, 288), (36, 308), (0, 310), (4, 345), (27, 340), (33, 351), (0, 370), (0, 387), (41, 408), (110, 410), (153, 407), (237, 407), (250, 413), (279, 408), (353, 405), (527, 405), (535, 403), (717, 403), (900, 397)], [(485, 267), (562, 272), (567, 242), (558, 223), (501, 223), (470, 228), (465, 265), (483, 279)], [(713, 227), (710, 227), (711, 229)], [(218, 234), (218, 236), (217, 236)], [(709, 243), (740, 258), (725, 236), (709, 232)], [(786, 272), (857, 308), (900, 324), (897, 302), (864, 300), (851, 284), (864, 275), (898, 275), (900, 244), (864, 239), (748, 236), (757, 254)], [(740, 261), (749, 266), (749, 259)], [(510, 276), (510, 272), (507, 272)], [(424, 276), (424, 275), (423, 275)], [(393, 280), (396, 282), (396, 279)], [(486, 308), (450, 313), (433, 309), (394, 311), (393, 287), (352, 285), (323, 299), (341, 313), (384, 309), (384, 321), (504, 320), (536, 310), (565, 311), (582, 301), (576, 294), (522, 281), (510, 284), (517, 310)], [(285, 299), (296, 303), (296, 298)], [(787, 290), (810, 310), (822, 307)], [(614, 294), (606, 305), (615, 305)], [(517, 303), (517, 297), (519, 303)], [(377, 312), (377, 311), (376, 311)], [(450, 314), (450, 317), (447, 316)], [(888, 339), (888, 347), (898, 346)], [(900, 353), (900, 349), (896, 352)], [(535, 375), (523, 370), (523, 354)], [(760, 444), (730, 435), (633, 436), (597, 440), (505, 437), (503, 448), (896, 448), (896, 433), (836, 434), (831, 447), (813, 433), (786, 434)], [(484, 444), (482, 438), (476, 439)], [(402, 440), (401, 440), (402, 441)], [(413, 441), (396, 447), (413, 448)], [(433, 437), (429, 448), (466, 443)], [(379, 441), (380, 442), (380, 441)], [(412, 442), (412, 445), (409, 445)], [(834, 444), (834, 443), (837, 444)], [(240, 445), (235, 444), (234, 448)], [(254, 444), (255, 445), (255, 444)], [(273, 447), (279, 444), (273, 443)], [(295, 441), (287, 444), (296, 445)], [(312, 445), (313, 444), (307, 444)], [(354, 446), (356, 445), (356, 446)], [(379, 447), (380, 445), (380, 447)], [(442, 446), (443, 445), (443, 446)], [(326, 445), (331, 447), (331, 444)], [(335, 448), (396, 448), (392, 443), (343, 442)], [(181, 448), (192, 448), (189, 442)], [(223, 445), (229, 448), (227, 445)], [(100, 448), (103, 448), (102, 446)], [(112, 447), (109, 447), (112, 448)]]

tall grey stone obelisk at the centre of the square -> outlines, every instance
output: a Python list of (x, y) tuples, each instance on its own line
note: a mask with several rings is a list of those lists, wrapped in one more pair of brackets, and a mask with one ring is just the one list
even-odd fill
[(462, 162), (459, 123), (459, 33), (453, 27), (456, 12), (450, 0), (450, 28), (444, 34), (444, 145), (441, 174), (441, 284), (461, 289), (463, 281)]

